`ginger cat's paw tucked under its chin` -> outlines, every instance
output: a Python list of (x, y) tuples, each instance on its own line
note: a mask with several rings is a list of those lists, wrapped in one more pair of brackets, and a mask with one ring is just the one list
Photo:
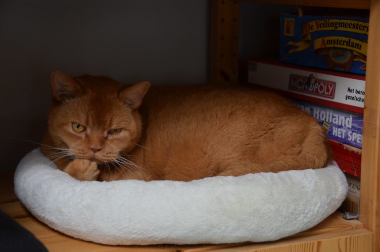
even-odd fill
[(74, 159), (63, 171), (70, 174), (73, 178), (88, 181), (96, 180), (100, 173), (96, 162), (92, 162), (88, 159)]

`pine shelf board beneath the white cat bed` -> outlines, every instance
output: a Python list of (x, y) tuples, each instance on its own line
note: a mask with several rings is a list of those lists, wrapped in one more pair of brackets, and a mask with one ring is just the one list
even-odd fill
[[(334, 213), (317, 226), (286, 239), (272, 243), (240, 243), (222, 245), (193, 245), (193, 246), (106, 246), (85, 242), (49, 228), (46, 224), (33, 217), (30, 212), (17, 200), (13, 192), (13, 172), (0, 173), (0, 209), (14, 218), (19, 224), (31, 231), (50, 252), (233, 252), (255, 251), (283, 252), (285, 248), (298, 248), (302, 252), (324, 251), (325, 248), (341, 248), (341, 252), (369, 252), (372, 243), (372, 232), (363, 228), (363, 223), (357, 220), (345, 220), (341, 213)], [(344, 237), (344, 239), (342, 239)], [(360, 240), (360, 250), (352, 247), (350, 241)], [(355, 244), (356, 246), (357, 244)], [(290, 246), (290, 247), (289, 247)], [(309, 248), (304, 250), (303, 248)], [(343, 249), (342, 249), (343, 248)], [(311, 250), (313, 249), (313, 250)]]

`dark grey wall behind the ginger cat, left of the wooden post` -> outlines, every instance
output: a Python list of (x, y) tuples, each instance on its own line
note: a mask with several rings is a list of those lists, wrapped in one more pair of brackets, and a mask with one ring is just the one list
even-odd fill
[(107, 75), (125, 83), (207, 80), (206, 0), (0, 1), (0, 170), (40, 142), (49, 75)]

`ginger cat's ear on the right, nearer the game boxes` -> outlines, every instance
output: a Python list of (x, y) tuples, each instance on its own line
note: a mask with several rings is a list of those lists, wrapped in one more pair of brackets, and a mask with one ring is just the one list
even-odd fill
[(130, 108), (137, 109), (141, 105), (142, 98), (145, 96), (149, 87), (149, 82), (140, 82), (121, 91), (119, 98)]

